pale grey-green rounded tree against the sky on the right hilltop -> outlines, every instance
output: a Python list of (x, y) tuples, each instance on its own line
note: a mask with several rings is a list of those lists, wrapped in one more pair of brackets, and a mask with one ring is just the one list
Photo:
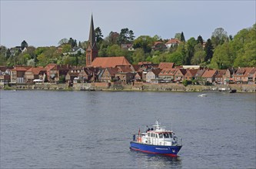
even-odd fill
[(224, 28), (216, 28), (211, 35), (211, 41), (216, 48), (218, 45), (224, 44), (225, 41), (228, 41), (228, 33), (224, 31)]

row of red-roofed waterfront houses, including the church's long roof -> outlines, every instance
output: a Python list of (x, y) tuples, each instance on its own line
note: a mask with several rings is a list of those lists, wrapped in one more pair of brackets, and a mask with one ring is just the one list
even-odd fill
[(199, 66), (175, 66), (174, 63), (140, 62), (130, 65), (125, 57), (96, 58), (91, 67), (71, 67), (68, 65), (49, 64), (45, 67), (0, 67), (1, 84), (90, 83), (94, 81), (120, 81), (130, 84), (133, 81), (147, 83), (180, 83), (197, 81), (200, 85), (208, 84), (256, 84), (256, 68), (228, 68), (211, 70)]

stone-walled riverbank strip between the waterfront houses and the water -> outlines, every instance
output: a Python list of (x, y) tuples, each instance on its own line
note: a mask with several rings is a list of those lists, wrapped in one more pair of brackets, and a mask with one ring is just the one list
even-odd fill
[(121, 83), (78, 83), (69, 87), (66, 84), (35, 84), (35, 85), (5, 85), (4, 90), (61, 90), (61, 91), (218, 91), (221, 88), (238, 92), (256, 92), (256, 85), (188, 85), (182, 84), (150, 84), (135, 83), (124, 85)]

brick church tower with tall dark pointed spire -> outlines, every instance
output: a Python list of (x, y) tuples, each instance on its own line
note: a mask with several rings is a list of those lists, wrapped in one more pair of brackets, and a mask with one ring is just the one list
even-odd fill
[(88, 46), (86, 48), (86, 67), (90, 67), (91, 62), (97, 57), (98, 48), (95, 41), (95, 28), (93, 25), (93, 18), (91, 15), (91, 26), (90, 26), (90, 35), (88, 39)]

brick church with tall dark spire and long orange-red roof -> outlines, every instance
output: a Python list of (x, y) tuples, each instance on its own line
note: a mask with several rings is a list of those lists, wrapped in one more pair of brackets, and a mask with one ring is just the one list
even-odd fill
[(116, 66), (131, 66), (125, 56), (119, 57), (98, 57), (98, 48), (95, 40), (95, 28), (91, 15), (91, 25), (86, 48), (86, 67), (94, 68), (115, 68)]

